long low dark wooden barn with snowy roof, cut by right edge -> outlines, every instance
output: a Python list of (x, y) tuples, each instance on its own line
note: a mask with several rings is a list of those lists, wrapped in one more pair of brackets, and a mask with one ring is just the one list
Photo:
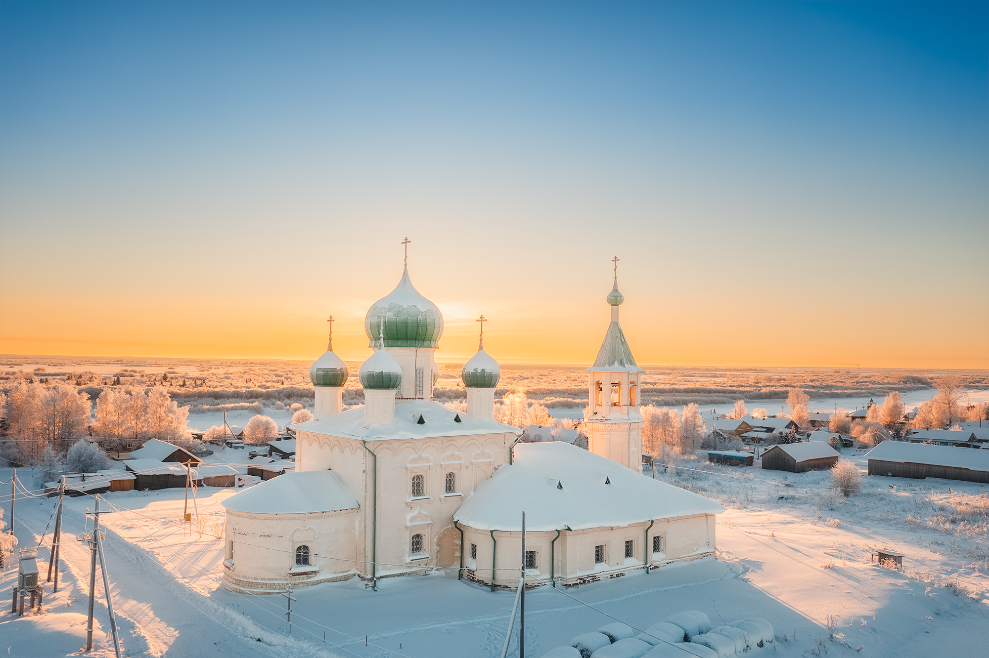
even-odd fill
[(941, 477), (989, 484), (989, 450), (964, 450), (953, 446), (929, 446), (884, 441), (869, 452), (869, 475), (891, 477)]

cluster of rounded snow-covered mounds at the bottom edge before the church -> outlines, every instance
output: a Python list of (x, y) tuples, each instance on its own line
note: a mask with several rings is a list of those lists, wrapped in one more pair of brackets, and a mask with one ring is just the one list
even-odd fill
[[(543, 658), (729, 658), (762, 647), (772, 640), (772, 624), (753, 617), (730, 625), (711, 627), (703, 613), (676, 613), (639, 632), (627, 623), (608, 623), (594, 632), (578, 635), (570, 646), (560, 646)], [(674, 644), (676, 646), (674, 646)]]

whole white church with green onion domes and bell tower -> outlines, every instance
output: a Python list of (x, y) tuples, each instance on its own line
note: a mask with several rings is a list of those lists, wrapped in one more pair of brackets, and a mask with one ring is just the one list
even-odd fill
[(523, 511), (535, 584), (713, 555), (724, 508), (642, 474), (643, 370), (618, 322), (623, 300), (616, 271), (611, 322), (587, 369), (589, 450), (520, 443), (521, 429), (494, 419), (500, 370), (483, 330), (461, 372), (466, 413), (433, 400), (443, 315), (412, 286), (406, 262), (364, 318), (373, 351), (359, 371), (364, 404), (343, 409), (349, 372), (330, 337), (310, 370), (314, 420), (294, 426), (296, 472), (225, 500), (225, 588), (272, 594), (356, 576), (377, 589), (382, 578), (444, 569), (513, 589)]

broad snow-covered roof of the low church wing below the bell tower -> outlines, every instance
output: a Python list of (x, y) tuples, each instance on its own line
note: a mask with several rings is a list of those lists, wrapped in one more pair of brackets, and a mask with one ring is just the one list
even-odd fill
[(718, 503), (562, 442), (518, 444), (453, 518), (478, 530), (584, 530), (720, 514)]

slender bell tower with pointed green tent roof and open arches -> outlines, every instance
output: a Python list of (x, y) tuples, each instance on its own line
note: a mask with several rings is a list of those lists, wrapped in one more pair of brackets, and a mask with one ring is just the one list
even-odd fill
[(618, 291), (618, 257), (614, 285), (608, 293), (611, 323), (594, 365), (588, 368), (588, 404), (585, 425), (587, 449), (642, 472), (642, 426), (639, 391), (642, 373), (618, 323), (618, 307), (625, 297)]

